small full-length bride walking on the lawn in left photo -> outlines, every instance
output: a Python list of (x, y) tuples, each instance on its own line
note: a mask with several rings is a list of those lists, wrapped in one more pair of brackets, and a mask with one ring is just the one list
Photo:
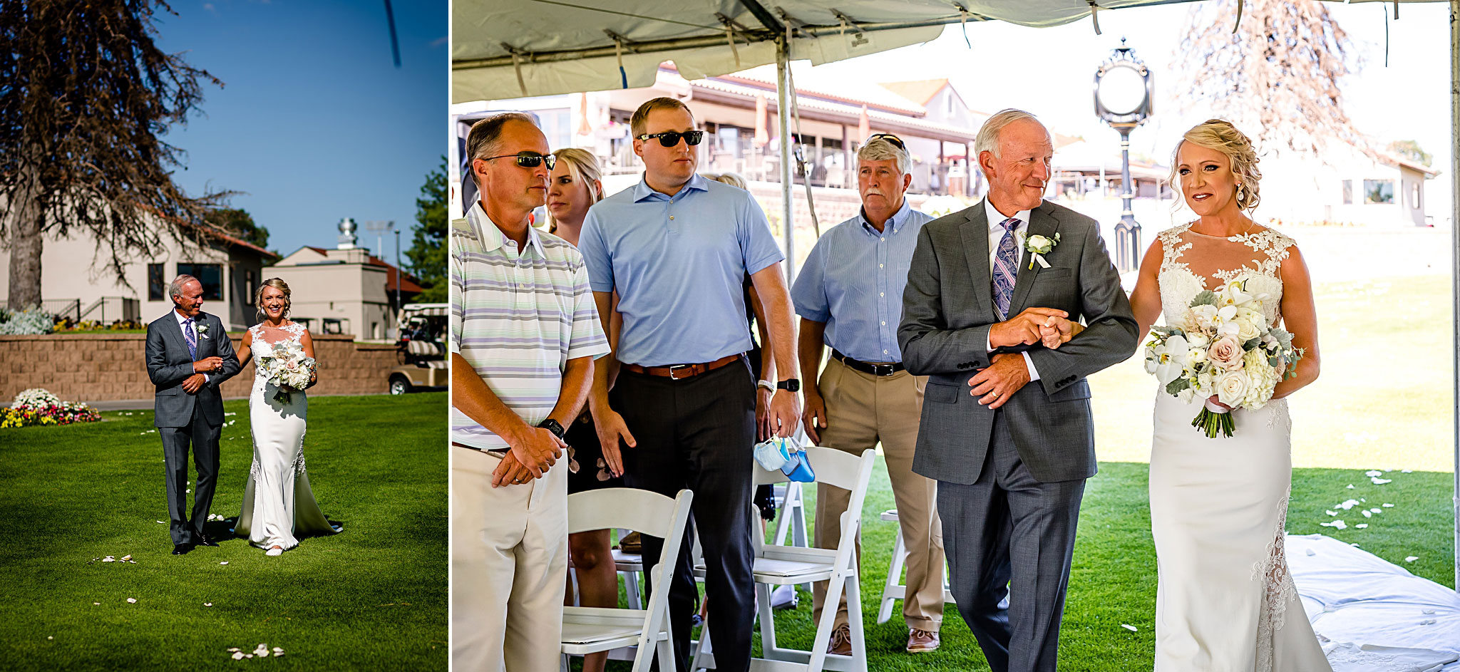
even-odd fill
[[(256, 349), (267, 349), (288, 339), (298, 340), (304, 354), (314, 356), (314, 340), (302, 324), (289, 320), (289, 285), (270, 278), (254, 295), (261, 321), (248, 327), (238, 348), (239, 367), (248, 364)], [(274, 399), (277, 386), (264, 380), (256, 364), (254, 387), (248, 394), (248, 427), (254, 438), (254, 466), (244, 489), (244, 507), (234, 533), (263, 548), (264, 555), (280, 555), (299, 545), (299, 538), (333, 535), (314, 501), (310, 475), (304, 470), (304, 431), (310, 399), (304, 390), (286, 389), (289, 402)], [(317, 375), (310, 377), (312, 386)]]

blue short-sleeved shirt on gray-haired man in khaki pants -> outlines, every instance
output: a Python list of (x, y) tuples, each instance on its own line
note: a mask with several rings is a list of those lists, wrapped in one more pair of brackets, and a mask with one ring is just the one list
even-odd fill
[(898, 323), (917, 232), (933, 218), (907, 200), (882, 231), (863, 213), (822, 234), (791, 285), (796, 314), (826, 323), (826, 345), (864, 362), (901, 362)]

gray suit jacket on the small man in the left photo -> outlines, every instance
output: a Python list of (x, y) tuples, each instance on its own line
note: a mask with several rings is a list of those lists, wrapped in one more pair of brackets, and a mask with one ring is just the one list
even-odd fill
[(223, 370), (207, 374), (209, 381), (196, 394), (182, 390), (182, 381), (193, 375), (196, 361), (187, 352), (187, 339), (174, 311), (147, 324), (147, 377), (156, 386), (155, 427), (187, 427), (193, 424), (193, 406), (203, 405), (203, 419), (209, 427), (223, 424), (223, 396), (219, 392), (225, 380), (238, 374), (238, 355), (228, 339), (223, 323), (210, 313), (200, 313), (197, 324), (207, 324), (207, 335), (199, 335), (197, 359), (206, 356), (223, 358)]

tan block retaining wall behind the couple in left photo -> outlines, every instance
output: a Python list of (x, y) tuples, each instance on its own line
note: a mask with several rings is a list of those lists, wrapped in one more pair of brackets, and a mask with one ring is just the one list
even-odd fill
[[(234, 349), (242, 333), (231, 333)], [(146, 335), (53, 333), (0, 336), (0, 405), (20, 390), (44, 387), (67, 402), (152, 399), (147, 380)], [(396, 367), (396, 346), (358, 343), (353, 336), (314, 336), (320, 383), (312, 394), (383, 394)], [(242, 399), (254, 384), (254, 364), (223, 383), (225, 399)]]

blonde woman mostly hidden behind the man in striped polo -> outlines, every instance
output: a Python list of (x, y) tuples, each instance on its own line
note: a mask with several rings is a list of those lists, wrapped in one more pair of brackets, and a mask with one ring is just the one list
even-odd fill
[[(553, 152), (558, 164), (548, 178), (548, 232), (578, 245), (578, 234), (583, 231), (583, 218), (588, 215), (588, 207), (603, 200), (603, 181), (599, 169), (599, 159), (587, 149), (559, 149)], [(615, 313), (616, 314), (616, 313)], [(618, 343), (618, 326), (610, 324), (609, 343)], [(612, 356), (600, 361), (603, 365), (615, 365)], [(612, 373), (610, 373), (612, 380)], [(578, 462), (577, 472), (568, 472), (568, 494), (584, 492), (597, 488), (623, 486), (623, 460), (618, 446), (603, 450), (599, 444), (599, 434), (593, 429), (593, 418), (584, 406), (583, 413), (574, 421), (564, 443), (574, 451)], [(578, 573), (578, 606), (619, 606), (619, 574), (613, 565), (613, 541), (609, 530), (590, 530), (568, 535), (568, 557), (571, 567)], [(574, 605), (574, 583), (568, 581), (564, 605)], [(583, 659), (583, 672), (603, 672), (609, 654), (590, 653)]]

